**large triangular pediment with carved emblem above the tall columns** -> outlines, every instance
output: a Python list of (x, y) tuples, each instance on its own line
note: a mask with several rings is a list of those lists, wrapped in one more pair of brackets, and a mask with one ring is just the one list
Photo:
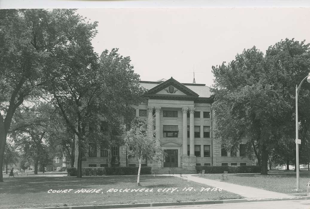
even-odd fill
[(181, 84), (179, 81), (176, 81), (172, 77), (162, 82), (161, 84), (155, 86), (152, 89), (149, 89), (146, 95), (153, 96), (184, 96), (184, 97), (198, 97), (199, 95)]

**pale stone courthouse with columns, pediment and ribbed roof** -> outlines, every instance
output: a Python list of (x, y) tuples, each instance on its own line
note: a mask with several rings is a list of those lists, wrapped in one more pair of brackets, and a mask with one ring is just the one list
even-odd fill
[[(245, 157), (247, 139), (242, 139), (239, 150), (228, 152), (221, 147), (219, 140), (213, 138), (214, 97), (210, 87), (180, 83), (172, 77), (156, 82), (140, 81), (140, 85), (148, 90), (145, 94), (148, 100), (135, 107), (136, 116), (145, 123), (148, 118), (154, 118), (151, 127), (156, 130), (156, 137), (159, 136), (160, 144), (166, 151), (161, 163), (145, 162), (144, 166), (193, 170), (200, 165), (252, 165), (252, 161)], [(77, 153), (75, 156), (77, 162)], [(122, 147), (105, 150), (96, 146), (91, 147), (82, 161), (83, 167), (110, 165), (139, 166), (139, 163), (133, 158), (126, 159)]]

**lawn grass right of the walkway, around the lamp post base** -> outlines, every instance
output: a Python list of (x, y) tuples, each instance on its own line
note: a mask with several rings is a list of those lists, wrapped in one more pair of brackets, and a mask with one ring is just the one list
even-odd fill
[[(197, 175), (201, 177), (200, 175)], [(206, 174), (202, 178), (219, 180), (222, 179), (222, 174)], [(297, 192), (294, 189), (297, 188), (296, 184), (296, 173), (295, 172), (284, 172), (284, 171), (272, 171), (269, 175), (260, 174), (229, 174), (228, 180), (225, 178), (225, 182), (250, 186), (259, 189), (265, 189), (274, 192), (280, 192), (284, 194), (294, 194), (296, 196), (304, 196), (306, 193), (306, 185), (310, 181), (310, 172), (300, 171), (299, 172), (299, 185), (302, 191)]]

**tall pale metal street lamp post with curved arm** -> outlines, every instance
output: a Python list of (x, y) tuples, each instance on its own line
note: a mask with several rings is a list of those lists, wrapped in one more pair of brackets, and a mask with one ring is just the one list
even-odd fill
[(301, 84), (303, 83), (304, 80), (308, 81), (308, 83), (310, 83), (310, 72), (308, 74), (308, 76), (306, 76), (299, 84), (299, 86), (297, 87), (296, 85), (296, 178), (297, 178), (297, 189), (299, 190), (299, 144), (300, 141), (298, 139), (298, 93), (299, 93), (299, 89)]

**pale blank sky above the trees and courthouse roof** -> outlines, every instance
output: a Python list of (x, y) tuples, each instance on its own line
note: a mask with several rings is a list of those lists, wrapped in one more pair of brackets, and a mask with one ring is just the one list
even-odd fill
[[(121, 55), (131, 57), (142, 81), (173, 77), (181, 83), (192, 83), (195, 72), (196, 83), (212, 86), (211, 67), (232, 61), (244, 49), (256, 46), (265, 53), (269, 46), (285, 38), (310, 42), (309, 6), (299, 8), (282, 3), (267, 5), (274, 8), (261, 5), (215, 8), (222, 5), (212, 1), (214, 5), (200, 8), (199, 4), (131, 8), (124, 6), (124, 2), (130, 1), (104, 9), (91, 4), (76, 8), (81, 8), (78, 14), (90, 22), (99, 22), (98, 34), (92, 40), (95, 51), (101, 54), (105, 49), (119, 48)], [(4, 8), (3, 5), (2, 0), (0, 7)], [(63, 8), (59, 4), (41, 8), (56, 7)]]

